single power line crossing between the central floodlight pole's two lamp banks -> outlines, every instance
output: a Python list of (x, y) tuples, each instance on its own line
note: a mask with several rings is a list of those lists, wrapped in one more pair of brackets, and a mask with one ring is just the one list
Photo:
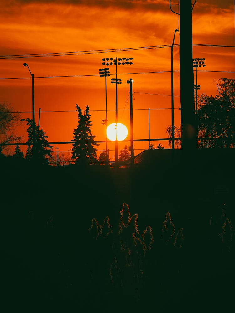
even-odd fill
[[(173, 71), (180, 72), (180, 71)], [(208, 70), (200, 70), (200, 72), (210, 72), (210, 73), (235, 73), (235, 71), (208, 71)], [(136, 72), (136, 73), (120, 73), (118, 75), (132, 75), (132, 74), (155, 74), (155, 73), (171, 73), (171, 71), (155, 71), (155, 72)], [(110, 74), (110, 76), (115, 74)], [(100, 76), (99, 74), (93, 75), (67, 75), (67, 76), (34, 76), (36, 78), (66, 78), (66, 77), (91, 77), (91, 76)], [(32, 79), (31, 77), (4, 77), (0, 78), (0, 80), (10, 80), (10, 79)]]

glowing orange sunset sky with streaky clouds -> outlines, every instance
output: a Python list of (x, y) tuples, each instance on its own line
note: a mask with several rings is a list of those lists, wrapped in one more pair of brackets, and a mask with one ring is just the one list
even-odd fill
[[(172, 2), (178, 4), (178, 1)], [(174, 5), (175, 11), (178, 5)], [(0, 102), (10, 103), (32, 117), (31, 79), (23, 66), (26, 62), (34, 74), (35, 121), (41, 108), (40, 125), (49, 142), (71, 141), (77, 126), (76, 103), (82, 110), (90, 107), (95, 140), (105, 140), (105, 79), (99, 77), (103, 57), (133, 57), (133, 65), (118, 66), (118, 121), (130, 125), (129, 78), (133, 83), (133, 136), (148, 139), (166, 138), (171, 124), (170, 47), (129, 49), (129, 51), (79, 53), (93, 50), (123, 50), (134, 47), (171, 45), (174, 30), (180, 30), (180, 18), (170, 11), (169, 0), (98, 0), (31, 1), (2, 0), (0, 41)], [(234, 1), (197, 0), (192, 14), (193, 44), (235, 46)], [(175, 36), (174, 70), (179, 71), (179, 33)], [(9, 55), (77, 52), (75, 55), (4, 58)], [(193, 57), (204, 57), (206, 67), (198, 69), (198, 95), (215, 95), (215, 81), (235, 78), (235, 49), (193, 46)], [(109, 66), (107, 109), (109, 122), (115, 121), (115, 67)], [(214, 72), (213, 72), (214, 71)], [(215, 72), (220, 71), (220, 72)], [(146, 73), (158, 72), (158, 73)], [(230, 72), (230, 73), (228, 73)], [(233, 72), (233, 73), (231, 73)], [(141, 74), (145, 73), (145, 74)], [(76, 76), (37, 78), (48, 76)], [(2, 79), (22, 78), (22, 79)], [(24, 78), (24, 79), (23, 79)], [(175, 125), (180, 126), (180, 74), (174, 73)], [(26, 127), (19, 130), (27, 140)], [(128, 139), (129, 139), (128, 135)], [(154, 147), (160, 141), (153, 141)], [(161, 141), (167, 148), (167, 142)], [(126, 143), (129, 145), (129, 143)], [(119, 144), (122, 149), (124, 143)], [(54, 146), (55, 148), (55, 146)], [(67, 151), (70, 145), (60, 145)], [(103, 150), (101, 144), (98, 150)], [(148, 148), (147, 142), (134, 143), (135, 155)], [(109, 145), (110, 155), (114, 144)]]

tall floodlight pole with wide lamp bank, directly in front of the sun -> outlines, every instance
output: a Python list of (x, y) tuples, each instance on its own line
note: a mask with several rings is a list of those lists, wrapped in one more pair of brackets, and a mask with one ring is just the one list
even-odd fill
[[(115, 123), (118, 123), (118, 84), (121, 84), (121, 79), (117, 78), (117, 65), (131, 65), (133, 62), (131, 62), (133, 58), (103, 58), (102, 65), (115, 65), (116, 67), (116, 78), (112, 79), (112, 83), (116, 84), (115, 88)], [(115, 141), (115, 161), (118, 161), (118, 140)]]

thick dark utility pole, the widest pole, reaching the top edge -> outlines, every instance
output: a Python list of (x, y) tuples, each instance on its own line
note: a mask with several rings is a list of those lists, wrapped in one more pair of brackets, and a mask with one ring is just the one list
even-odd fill
[(180, 100), (182, 156), (191, 163), (196, 151), (191, 0), (180, 2)]

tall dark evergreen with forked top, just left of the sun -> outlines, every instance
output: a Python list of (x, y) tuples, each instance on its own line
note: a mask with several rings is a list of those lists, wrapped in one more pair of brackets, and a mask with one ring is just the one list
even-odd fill
[(77, 104), (76, 108), (78, 112), (78, 126), (73, 132), (72, 159), (75, 160), (76, 165), (97, 164), (97, 149), (94, 146), (99, 145), (94, 141), (95, 136), (91, 133), (92, 123), (90, 121), (89, 106), (86, 106), (84, 115)]

